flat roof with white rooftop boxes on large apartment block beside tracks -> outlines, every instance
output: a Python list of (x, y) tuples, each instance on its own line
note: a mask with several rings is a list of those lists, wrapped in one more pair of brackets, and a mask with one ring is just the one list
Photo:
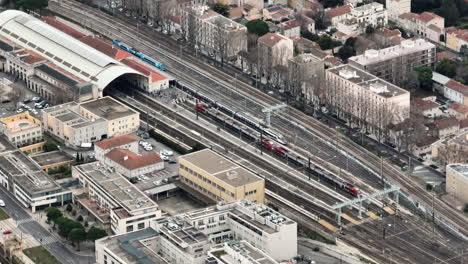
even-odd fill
[(409, 93), (392, 83), (349, 64), (339, 65), (327, 71), (386, 98)]

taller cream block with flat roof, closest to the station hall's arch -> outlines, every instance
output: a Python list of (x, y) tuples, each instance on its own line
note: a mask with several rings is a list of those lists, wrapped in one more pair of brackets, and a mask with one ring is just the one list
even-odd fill
[(104, 119), (107, 137), (132, 133), (140, 127), (140, 114), (110, 96), (81, 103), (79, 111), (87, 119)]

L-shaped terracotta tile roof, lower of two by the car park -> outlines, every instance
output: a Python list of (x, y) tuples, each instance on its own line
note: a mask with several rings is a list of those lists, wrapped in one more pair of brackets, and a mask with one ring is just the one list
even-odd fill
[(129, 170), (143, 168), (163, 162), (161, 157), (156, 152), (139, 155), (131, 152), (128, 149), (119, 148), (109, 151), (105, 156)]

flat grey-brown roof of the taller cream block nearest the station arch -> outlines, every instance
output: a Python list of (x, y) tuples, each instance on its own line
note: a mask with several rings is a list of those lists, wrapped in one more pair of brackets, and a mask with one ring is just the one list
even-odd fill
[(106, 120), (118, 119), (137, 113), (109, 96), (82, 103), (80, 107)]

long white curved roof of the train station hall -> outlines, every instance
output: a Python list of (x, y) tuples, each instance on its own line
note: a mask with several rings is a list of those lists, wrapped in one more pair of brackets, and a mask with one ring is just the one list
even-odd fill
[(17, 10), (0, 13), (0, 36), (104, 89), (123, 74), (141, 73), (41, 20)]

